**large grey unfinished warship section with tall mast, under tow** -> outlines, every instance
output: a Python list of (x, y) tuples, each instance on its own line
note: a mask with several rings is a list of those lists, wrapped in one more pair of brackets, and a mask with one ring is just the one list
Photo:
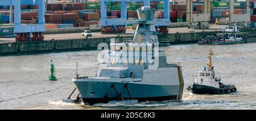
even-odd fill
[(181, 100), (181, 66), (167, 63), (166, 54), (158, 47), (155, 23), (164, 21), (155, 21), (155, 10), (150, 7), (144, 6), (137, 12), (133, 41), (123, 44), (112, 40), (96, 76), (77, 76), (72, 80), (84, 103)]

